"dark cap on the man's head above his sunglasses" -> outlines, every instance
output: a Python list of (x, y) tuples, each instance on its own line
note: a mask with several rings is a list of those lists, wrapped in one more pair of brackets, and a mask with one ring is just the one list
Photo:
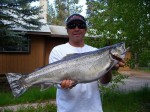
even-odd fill
[(85, 18), (84, 18), (82, 15), (80, 15), (80, 14), (72, 14), (72, 15), (70, 15), (70, 16), (67, 18), (67, 20), (66, 20), (66, 26), (67, 26), (70, 22), (75, 21), (75, 20), (82, 21), (83, 23), (86, 24), (86, 20), (85, 20)]

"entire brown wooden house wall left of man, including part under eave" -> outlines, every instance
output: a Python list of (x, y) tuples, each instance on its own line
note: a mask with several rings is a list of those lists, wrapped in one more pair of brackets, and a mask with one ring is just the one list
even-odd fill
[(44, 35), (30, 35), (30, 38), (29, 53), (0, 53), (0, 74), (33, 72), (48, 64), (49, 53), (54, 46), (68, 41), (68, 38)]

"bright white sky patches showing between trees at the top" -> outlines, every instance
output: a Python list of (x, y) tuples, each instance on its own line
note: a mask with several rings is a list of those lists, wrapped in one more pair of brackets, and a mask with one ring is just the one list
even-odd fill
[[(53, 3), (54, 0), (49, 0), (49, 1), (50, 1), (50, 3)], [(33, 2), (31, 5), (38, 6), (39, 2)], [(83, 9), (82, 9), (83, 11), (80, 14), (83, 16), (86, 16), (86, 9), (87, 9), (86, 0), (79, 0), (79, 5), (83, 6)]]

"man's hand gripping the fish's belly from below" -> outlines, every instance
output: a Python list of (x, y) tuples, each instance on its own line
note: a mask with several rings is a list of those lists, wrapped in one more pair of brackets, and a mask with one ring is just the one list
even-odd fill
[(72, 87), (75, 86), (74, 83), (75, 83), (75, 81), (73, 81), (73, 80), (63, 80), (61, 82), (61, 87), (63, 89), (71, 89)]

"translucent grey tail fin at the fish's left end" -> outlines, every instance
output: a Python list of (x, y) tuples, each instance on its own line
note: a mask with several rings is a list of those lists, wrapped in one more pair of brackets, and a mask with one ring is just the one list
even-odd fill
[(23, 86), (23, 81), (25, 77), (24, 75), (17, 73), (7, 73), (6, 77), (10, 84), (12, 93), (15, 97), (19, 97), (27, 90), (27, 87)]

